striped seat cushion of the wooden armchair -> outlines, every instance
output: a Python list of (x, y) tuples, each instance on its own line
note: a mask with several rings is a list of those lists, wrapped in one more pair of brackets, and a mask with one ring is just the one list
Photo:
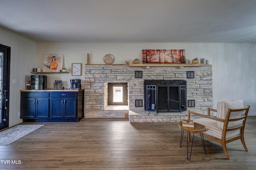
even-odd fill
[[(208, 131), (204, 132), (205, 134), (221, 139), (222, 130), (218, 129), (216, 120), (212, 120), (208, 118), (200, 118), (200, 119), (194, 119), (193, 121), (207, 127)], [(237, 129), (234, 131), (227, 131), (226, 139), (229, 139), (239, 134), (240, 134), (240, 129)]]

